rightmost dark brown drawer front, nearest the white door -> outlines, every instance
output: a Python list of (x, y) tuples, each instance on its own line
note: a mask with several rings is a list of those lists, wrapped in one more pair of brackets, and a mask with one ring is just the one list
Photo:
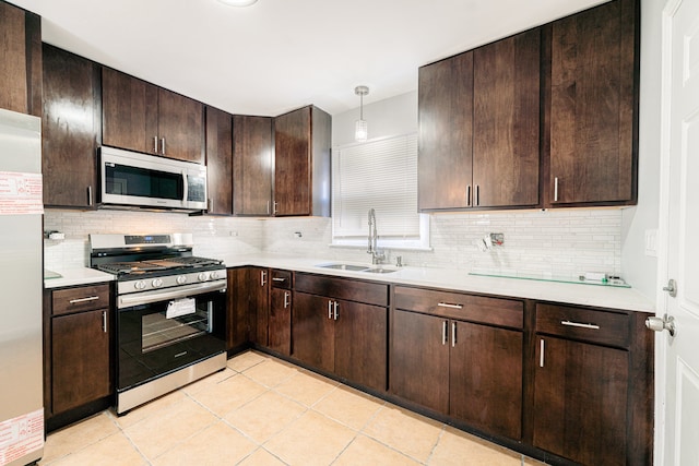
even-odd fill
[(536, 304), (536, 332), (619, 347), (630, 338), (625, 313), (555, 304)]

